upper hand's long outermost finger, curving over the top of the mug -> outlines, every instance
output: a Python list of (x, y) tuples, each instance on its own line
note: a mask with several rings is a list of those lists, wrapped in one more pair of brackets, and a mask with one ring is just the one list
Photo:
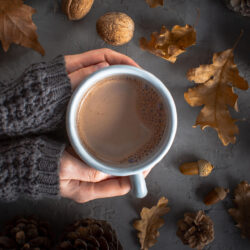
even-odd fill
[(130, 57), (107, 48), (91, 50), (77, 55), (65, 56), (66, 69), (69, 74), (81, 68), (101, 62), (107, 62), (109, 65), (128, 64), (140, 67)]

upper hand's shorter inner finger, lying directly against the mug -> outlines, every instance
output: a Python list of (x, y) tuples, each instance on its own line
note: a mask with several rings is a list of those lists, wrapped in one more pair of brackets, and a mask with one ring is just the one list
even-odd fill
[(71, 81), (72, 88), (75, 89), (81, 81), (86, 78), (88, 75), (94, 73), (98, 69), (108, 67), (107, 62), (101, 62), (95, 65), (91, 65), (85, 68), (81, 68), (73, 73), (69, 74), (69, 79)]

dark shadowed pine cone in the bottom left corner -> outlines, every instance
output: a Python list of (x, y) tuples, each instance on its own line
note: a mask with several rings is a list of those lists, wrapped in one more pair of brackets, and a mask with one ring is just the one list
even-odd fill
[(16, 218), (0, 236), (0, 249), (50, 249), (49, 224), (34, 217)]

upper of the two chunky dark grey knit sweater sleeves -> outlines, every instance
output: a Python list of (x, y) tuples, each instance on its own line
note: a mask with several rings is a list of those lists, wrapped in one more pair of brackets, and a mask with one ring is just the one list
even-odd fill
[(31, 65), (0, 88), (0, 137), (55, 129), (64, 119), (71, 92), (63, 56)]

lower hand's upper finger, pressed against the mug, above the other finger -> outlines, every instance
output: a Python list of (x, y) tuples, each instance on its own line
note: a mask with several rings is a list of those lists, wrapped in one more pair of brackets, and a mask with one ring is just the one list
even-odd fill
[(99, 182), (106, 180), (110, 175), (89, 167), (83, 161), (64, 151), (59, 171), (60, 181), (77, 180), (85, 182)]

